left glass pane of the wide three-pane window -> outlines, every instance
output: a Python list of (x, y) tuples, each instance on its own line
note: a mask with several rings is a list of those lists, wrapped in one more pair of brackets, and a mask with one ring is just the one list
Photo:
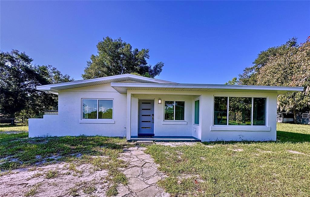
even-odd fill
[(227, 125), (227, 97), (214, 97), (214, 125)]

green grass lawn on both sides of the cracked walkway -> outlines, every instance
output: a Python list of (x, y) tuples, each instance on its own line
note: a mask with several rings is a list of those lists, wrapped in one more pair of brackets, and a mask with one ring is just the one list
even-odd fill
[[(18, 129), (18, 130), (17, 130)], [(27, 131), (2, 126), (0, 131)], [(28, 133), (0, 132), (0, 169), (31, 166), (49, 156), (88, 162), (107, 169), (111, 187), (126, 184), (117, 159), (126, 139), (101, 136), (27, 138)], [(151, 145), (150, 154), (168, 177), (160, 182), (172, 196), (310, 196), (310, 126), (277, 124), (276, 142), (215, 142), (194, 146)], [(102, 157), (93, 156), (107, 156)], [(3, 158), (10, 157), (10, 160)], [(52, 161), (52, 159), (51, 159)], [(0, 176), (1, 177), (1, 176)]]

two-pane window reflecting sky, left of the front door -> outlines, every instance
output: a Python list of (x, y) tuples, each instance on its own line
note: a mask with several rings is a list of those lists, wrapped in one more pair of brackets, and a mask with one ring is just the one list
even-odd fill
[(83, 99), (83, 119), (113, 119), (113, 100)]

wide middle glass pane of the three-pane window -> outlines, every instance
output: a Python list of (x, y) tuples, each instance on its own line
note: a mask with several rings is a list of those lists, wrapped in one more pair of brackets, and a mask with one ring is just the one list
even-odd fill
[(229, 97), (228, 125), (251, 125), (252, 97)]

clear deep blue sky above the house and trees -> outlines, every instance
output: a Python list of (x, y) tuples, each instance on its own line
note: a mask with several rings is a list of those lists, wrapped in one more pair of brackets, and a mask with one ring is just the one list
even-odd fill
[(157, 79), (224, 84), (257, 54), (310, 35), (310, 1), (0, 1), (0, 48), (75, 80), (103, 37), (150, 49)]

